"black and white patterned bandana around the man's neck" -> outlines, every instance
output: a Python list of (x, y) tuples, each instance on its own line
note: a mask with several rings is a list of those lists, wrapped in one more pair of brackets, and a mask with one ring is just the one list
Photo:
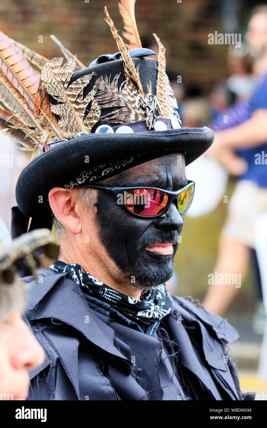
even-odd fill
[(103, 282), (90, 275), (90, 273), (83, 272), (81, 266), (76, 263), (67, 265), (62, 260), (57, 260), (51, 268), (58, 273), (72, 273), (72, 279), (81, 287), (85, 294), (91, 294), (110, 304), (126, 318), (132, 318), (148, 325), (151, 322), (160, 321), (165, 315), (173, 311), (171, 295), (167, 291), (165, 284), (142, 293), (141, 300), (136, 300), (113, 288), (109, 288)]

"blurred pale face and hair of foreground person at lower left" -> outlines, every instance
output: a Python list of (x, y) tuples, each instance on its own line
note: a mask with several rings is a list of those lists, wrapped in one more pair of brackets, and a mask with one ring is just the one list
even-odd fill
[(0, 282), (0, 400), (26, 400), (29, 371), (39, 366), (44, 351), (22, 320), (25, 283)]

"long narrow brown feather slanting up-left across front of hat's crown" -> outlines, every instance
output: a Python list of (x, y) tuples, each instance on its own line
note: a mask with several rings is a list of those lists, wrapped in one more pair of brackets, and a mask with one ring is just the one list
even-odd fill
[(123, 61), (126, 65), (126, 74), (128, 74), (129, 77), (136, 83), (136, 85), (139, 89), (139, 92), (141, 93), (141, 95), (144, 96), (144, 91), (143, 91), (143, 88), (141, 85), (141, 80), (139, 77), (138, 68), (135, 68), (135, 64), (134, 64), (134, 62), (133, 62), (133, 60), (129, 54), (129, 51), (126, 48), (126, 46), (123, 42), (123, 39), (118, 35), (117, 30), (114, 26), (114, 22), (112, 21), (111, 17), (109, 16), (108, 10), (106, 7), (104, 9), (104, 12), (107, 16), (105, 21), (108, 23), (108, 25), (111, 29), (111, 33), (113, 34), (113, 37), (117, 42), (117, 46), (119, 48), (121, 56), (123, 57)]

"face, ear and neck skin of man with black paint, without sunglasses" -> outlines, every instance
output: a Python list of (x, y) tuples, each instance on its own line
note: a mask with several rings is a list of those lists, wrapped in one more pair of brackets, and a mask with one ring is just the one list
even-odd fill
[[(134, 166), (99, 184), (128, 184), (128, 187), (146, 184), (148, 188), (178, 190), (188, 184), (184, 169), (183, 155), (167, 155)], [(116, 203), (112, 194), (94, 192), (88, 210), (88, 206), (72, 206), (70, 200), (76, 195), (76, 189), (54, 187), (50, 190), (49, 203), (55, 217), (67, 229), (73, 228), (72, 234), (60, 245), (60, 258), (71, 263), (78, 257), (83, 270), (112, 288), (140, 299), (141, 291), (156, 288), (170, 279), (183, 215), (172, 203), (165, 214), (155, 219), (134, 217)], [(69, 203), (69, 211), (66, 203)], [(73, 212), (77, 210), (82, 210), (78, 229), (76, 224), (73, 227)], [(77, 231), (81, 234), (79, 239)], [(84, 242), (85, 236), (90, 236), (89, 243)]]

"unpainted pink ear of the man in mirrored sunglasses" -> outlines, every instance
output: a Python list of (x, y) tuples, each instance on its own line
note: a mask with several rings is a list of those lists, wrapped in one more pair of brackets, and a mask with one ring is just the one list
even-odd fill
[(63, 187), (53, 187), (48, 193), (49, 204), (57, 220), (69, 232), (77, 235), (81, 232), (81, 211), (74, 196), (72, 189), (64, 189)]

